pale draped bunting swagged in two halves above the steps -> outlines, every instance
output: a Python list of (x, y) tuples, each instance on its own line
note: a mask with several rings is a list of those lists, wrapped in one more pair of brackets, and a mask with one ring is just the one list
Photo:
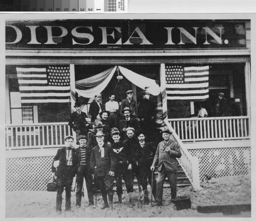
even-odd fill
[[(94, 97), (96, 94), (101, 93), (109, 84), (116, 71), (116, 68), (117, 66), (109, 68), (90, 78), (76, 81), (76, 92), (83, 97)], [(143, 77), (138, 73), (121, 66), (118, 66), (118, 68), (122, 75), (136, 86), (142, 89), (147, 88), (147, 92), (154, 96), (160, 93), (160, 87), (157, 85), (155, 80)]]

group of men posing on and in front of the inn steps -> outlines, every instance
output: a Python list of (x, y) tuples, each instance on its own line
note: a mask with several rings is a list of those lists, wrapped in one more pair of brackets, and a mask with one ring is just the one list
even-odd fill
[[(126, 94), (131, 92), (131, 90), (127, 91)], [(110, 99), (112, 98), (110, 96)], [(101, 109), (101, 119), (97, 120), (97, 115), (94, 115), (94, 120), (96, 120), (95, 131), (89, 139), (87, 137), (88, 131), (78, 127), (79, 125), (88, 127), (88, 122), (84, 120), (83, 123), (81, 121), (76, 122), (77, 119), (81, 120), (81, 118), (87, 116), (80, 116), (82, 112), (79, 104), (75, 105), (76, 113), (72, 113), (72, 121), (69, 122), (69, 125), (74, 127), (78, 134), (79, 147), (73, 149), (74, 138), (67, 136), (65, 137), (65, 148), (59, 149), (53, 159), (52, 171), (56, 172), (57, 177), (56, 211), (58, 213), (61, 213), (64, 187), (66, 190), (66, 210), (71, 209), (71, 186), (75, 175), (77, 177), (77, 207), (81, 206), (83, 179), (86, 180), (89, 206), (94, 205), (92, 185), (94, 179), (102, 194), (104, 202), (102, 209), (108, 208), (109, 204), (113, 209), (114, 179), (116, 180), (119, 204), (122, 203), (122, 179), (127, 193), (129, 193), (134, 191), (134, 177), (137, 178), (139, 191), (144, 193), (145, 204), (149, 203), (148, 181), (152, 187), (155, 206), (162, 205), (163, 183), (166, 177), (170, 183), (171, 203), (175, 201), (178, 166), (176, 158), (181, 157), (180, 146), (170, 139), (172, 132), (167, 127), (164, 127), (161, 131), (163, 141), (158, 144), (157, 149), (150, 142), (146, 142), (145, 132), (140, 128), (139, 121), (136, 118), (137, 108), (134, 104), (131, 105), (129, 101), (131, 100), (127, 99), (126, 104), (124, 102), (121, 105), (123, 119), (118, 120), (118, 124), (116, 123), (115, 113), (112, 114), (111, 124), (110, 121), (106, 124), (106, 118), (109, 116), (104, 116), (105, 111), (98, 106)], [(106, 104), (105, 107), (115, 110), (112, 104)], [(115, 107), (117, 108), (117, 106)], [(93, 119), (93, 115), (91, 116)], [(158, 167), (159, 172), (157, 181), (154, 173), (156, 167)]]

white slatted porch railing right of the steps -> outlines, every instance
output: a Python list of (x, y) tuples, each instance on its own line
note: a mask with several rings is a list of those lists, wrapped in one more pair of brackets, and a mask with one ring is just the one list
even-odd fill
[(184, 141), (249, 139), (249, 117), (204, 117), (168, 119)]

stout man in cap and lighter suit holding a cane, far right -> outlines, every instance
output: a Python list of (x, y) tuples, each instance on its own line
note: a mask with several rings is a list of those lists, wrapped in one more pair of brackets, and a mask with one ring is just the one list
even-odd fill
[(181, 157), (180, 145), (170, 139), (172, 132), (168, 127), (164, 127), (162, 130), (163, 141), (157, 146), (157, 151), (154, 157), (154, 161), (151, 166), (151, 170), (155, 170), (158, 166), (158, 178), (157, 178), (157, 199), (154, 206), (162, 206), (163, 200), (163, 184), (167, 177), (170, 184), (171, 200), (170, 203), (175, 202), (177, 194), (177, 170), (178, 161), (176, 158)]

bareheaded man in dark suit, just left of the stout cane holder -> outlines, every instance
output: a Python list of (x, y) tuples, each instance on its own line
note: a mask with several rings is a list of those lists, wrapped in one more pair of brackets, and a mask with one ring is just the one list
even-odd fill
[(136, 136), (139, 141), (135, 151), (136, 166), (138, 170), (138, 176), (141, 176), (142, 190), (144, 191), (144, 203), (148, 205), (149, 199), (147, 191), (147, 180), (151, 185), (151, 190), (153, 192), (154, 199), (156, 200), (156, 177), (150, 169), (156, 150), (151, 143), (145, 142), (145, 135), (142, 130), (136, 131)]

